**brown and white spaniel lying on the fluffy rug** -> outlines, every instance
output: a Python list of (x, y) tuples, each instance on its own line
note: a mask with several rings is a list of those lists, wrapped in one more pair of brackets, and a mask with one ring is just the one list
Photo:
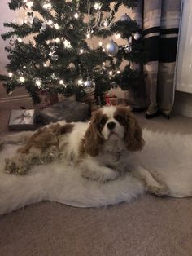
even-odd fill
[(24, 174), (33, 164), (64, 160), (85, 178), (102, 183), (129, 171), (149, 192), (166, 195), (168, 189), (158, 176), (132, 162), (134, 152), (144, 144), (142, 129), (129, 108), (105, 106), (88, 122), (59, 121), (37, 130), (14, 157), (6, 159), (5, 169)]

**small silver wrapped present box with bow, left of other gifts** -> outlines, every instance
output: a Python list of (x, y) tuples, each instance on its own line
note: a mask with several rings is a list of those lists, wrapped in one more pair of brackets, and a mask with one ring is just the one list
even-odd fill
[(33, 130), (36, 127), (36, 110), (13, 109), (9, 119), (10, 130)]

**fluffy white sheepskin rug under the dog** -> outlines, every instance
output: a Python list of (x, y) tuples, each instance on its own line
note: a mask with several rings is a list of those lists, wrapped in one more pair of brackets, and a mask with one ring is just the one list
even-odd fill
[[(191, 135), (155, 133), (143, 130), (146, 145), (132, 161), (158, 172), (167, 184), (169, 196), (192, 196)], [(7, 144), (0, 152), (0, 214), (40, 201), (57, 201), (76, 207), (99, 207), (129, 202), (145, 193), (141, 181), (129, 173), (107, 183), (81, 177), (78, 170), (63, 163), (34, 166), (24, 176), (6, 174), (4, 158), (18, 146)]]

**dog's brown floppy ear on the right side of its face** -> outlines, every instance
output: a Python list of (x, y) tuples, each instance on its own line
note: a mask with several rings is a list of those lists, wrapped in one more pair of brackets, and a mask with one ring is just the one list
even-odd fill
[(125, 132), (124, 140), (127, 143), (128, 150), (141, 150), (145, 144), (145, 141), (142, 138), (142, 128), (139, 126), (133, 114), (130, 113), (129, 109), (126, 109), (125, 112), (125, 121), (127, 130)]

